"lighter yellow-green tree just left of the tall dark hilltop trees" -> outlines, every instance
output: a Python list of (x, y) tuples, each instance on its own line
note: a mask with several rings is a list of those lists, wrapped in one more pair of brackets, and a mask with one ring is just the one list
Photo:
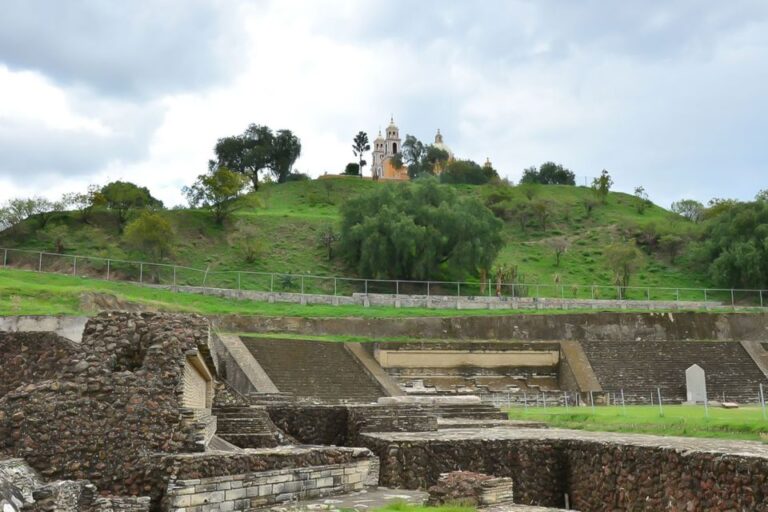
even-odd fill
[(241, 174), (210, 162), (208, 173), (199, 175), (191, 187), (182, 189), (182, 193), (191, 206), (210, 209), (216, 223), (223, 224), (237, 208), (236, 200), (246, 183)]

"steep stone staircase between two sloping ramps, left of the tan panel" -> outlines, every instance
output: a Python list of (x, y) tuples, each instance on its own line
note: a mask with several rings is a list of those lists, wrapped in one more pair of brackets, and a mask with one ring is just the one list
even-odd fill
[(244, 338), (281, 393), (324, 402), (375, 402), (387, 393), (342, 343)]

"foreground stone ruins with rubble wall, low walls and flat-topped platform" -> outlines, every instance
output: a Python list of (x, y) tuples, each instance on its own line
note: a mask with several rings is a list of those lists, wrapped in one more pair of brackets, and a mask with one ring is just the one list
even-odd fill
[(259, 510), (379, 485), (494, 512), (768, 511), (760, 443), (534, 428), (386, 386), (297, 400), (243, 387), (247, 357), (220, 341), (155, 313), (100, 314), (80, 342), (0, 333), (2, 512)]

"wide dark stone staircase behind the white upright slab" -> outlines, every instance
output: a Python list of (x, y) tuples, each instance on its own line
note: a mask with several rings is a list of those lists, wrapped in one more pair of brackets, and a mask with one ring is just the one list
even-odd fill
[(755, 403), (759, 384), (768, 379), (736, 342), (582, 341), (603, 390), (635, 402), (650, 402), (661, 388), (662, 399), (686, 400), (685, 370), (698, 364), (706, 372), (710, 400)]

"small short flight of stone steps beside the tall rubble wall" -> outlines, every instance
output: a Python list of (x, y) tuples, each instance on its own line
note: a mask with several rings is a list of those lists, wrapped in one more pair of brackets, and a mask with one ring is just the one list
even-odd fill
[(216, 435), (240, 448), (273, 448), (285, 437), (264, 407), (215, 407)]

